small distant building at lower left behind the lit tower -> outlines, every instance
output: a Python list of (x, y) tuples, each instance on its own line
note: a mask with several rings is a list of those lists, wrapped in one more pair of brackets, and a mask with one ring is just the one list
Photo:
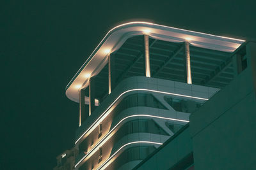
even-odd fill
[(77, 157), (78, 150), (72, 148), (61, 153), (57, 157), (57, 166), (53, 170), (73, 170), (75, 169), (75, 159)]

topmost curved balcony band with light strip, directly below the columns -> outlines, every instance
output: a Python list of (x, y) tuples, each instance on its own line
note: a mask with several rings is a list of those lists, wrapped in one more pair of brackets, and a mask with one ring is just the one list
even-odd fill
[[(90, 132), (99, 125), (104, 118), (115, 108), (120, 99), (136, 92), (150, 92), (155, 96), (160, 94), (164, 96), (172, 96), (175, 99), (189, 99), (198, 103), (204, 103), (216, 93), (219, 89), (211, 87), (203, 87), (200, 85), (189, 85), (177, 81), (161, 80), (158, 78), (147, 78), (143, 76), (130, 77), (119, 83), (113, 92), (106, 97), (100, 107), (93, 111), (92, 115), (84, 121), (77, 129), (76, 144), (86, 138)], [(164, 99), (159, 99), (168, 110), (173, 110)]]

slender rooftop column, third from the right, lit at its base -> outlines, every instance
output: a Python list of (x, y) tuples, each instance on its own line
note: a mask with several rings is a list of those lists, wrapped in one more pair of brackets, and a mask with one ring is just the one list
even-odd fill
[(115, 88), (115, 56), (108, 55), (108, 94)]

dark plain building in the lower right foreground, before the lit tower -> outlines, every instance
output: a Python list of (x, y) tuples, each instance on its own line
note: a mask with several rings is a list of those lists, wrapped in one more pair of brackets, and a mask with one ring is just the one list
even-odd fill
[(234, 79), (134, 169), (255, 169), (256, 42), (231, 57)]

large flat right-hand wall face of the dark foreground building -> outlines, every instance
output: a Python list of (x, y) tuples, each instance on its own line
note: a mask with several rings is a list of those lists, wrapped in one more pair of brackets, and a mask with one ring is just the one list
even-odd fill
[(190, 116), (195, 169), (255, 169), (255, 49), (246, 45), (247, 68)]

